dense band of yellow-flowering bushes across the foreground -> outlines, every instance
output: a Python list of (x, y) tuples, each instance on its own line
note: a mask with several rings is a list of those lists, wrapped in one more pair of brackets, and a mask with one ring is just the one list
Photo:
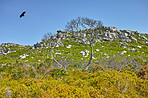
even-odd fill
[[(57, 77), (59, 79), (57, 79)], [(0, 79), (0, 98), (10, 88), (12, 98), (103, 98), (103, 97), (148, 97), (148, 81), (133, 72), (79, 70), (65, 73), (58, 69), (46, 78), (11, 78), (3, 73)]]

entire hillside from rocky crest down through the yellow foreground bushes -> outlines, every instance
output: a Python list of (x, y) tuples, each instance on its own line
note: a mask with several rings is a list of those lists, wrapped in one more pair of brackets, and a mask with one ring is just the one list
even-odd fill
[(2, 43), (0, 97), (147, 98), (148, 34), (103, 26), (92, 48), (88, 30), (58, 30), (33, 46)]

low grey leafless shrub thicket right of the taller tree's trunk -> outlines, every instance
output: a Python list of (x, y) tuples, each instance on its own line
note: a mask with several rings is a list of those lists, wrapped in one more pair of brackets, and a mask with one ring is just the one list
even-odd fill
[[(102, 59), (101, 58), (105, 58)], [(131, 71), (136, 72), (139, 71), (142, 67), (142, 64), (136, 60), (137, 58), (131, 58), (126, 57), (121, 54), (116, 54), (115, 56), (111, 56), (109, 58), (106, 58), (105, 56), (101, 56), (98, 58), (96, 63), (96, 66), (91, 66), (90, 72), (94, 70), (95, 67), (101, 67), (104, 71), (118, 69), (119, 72), (121, 72), (123, 69), (126, 69), (128, 66), (130, 66), (132, 69)]]

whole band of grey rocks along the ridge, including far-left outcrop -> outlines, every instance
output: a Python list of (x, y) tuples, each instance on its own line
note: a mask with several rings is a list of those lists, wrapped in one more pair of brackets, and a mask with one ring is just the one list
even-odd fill
[[(90, 30), (90, 29), (89, 29)], [(138, 31), (130, 31), (130, 30), (118, 30), (116, 27), (106, 27), (103, 26), (102, 27), (102, 31), (100, 32), (97, 28), (94, 30), (95, 31), (95, 36), (97, 36), (96, 39), (94, 39), (94, 41), (97, 42), (102, 42), (102, 40), (104, 41), (113, 41), (114, 39), (121, 39), (122, 41), (125, 42), (137, 42), (139, 39), (142, 39), (143, 42), (147, 43), (148, 38), (146, 38), (144, 36), (144, 34), (139, 33)], [(137, 39), (138, 36), (138, 39)], [(68, 38), (75, 38), (76, 42), (79, 42), (81, 44), (90, 44), (90, 41), (87, 39), (87, 37), (91, 37), (91, 34), (86, 32), (86, 31), (82, 31), (82, 32), (66, 32), (66, 31), (62, 31), (62, 30), (58, 30), (57, 34), (52, 35), (51, 36), (51, 41), (43, 41), (42, 43), (37, 43), (34, 44), (30, 49), (34, 50), (34, 49), (39, 49), (39, 48), (48, 48), (54, 45), (54, 41), (57, 39), (68, 39)], [(45, 43), (46, 42), (46, 43)], [(11, 49), (9, 47), (13, 47), (16, 46), (18, 44), (15, 43), (2, 43), (0, 45), (0, 56), (3, 54), (7, 54), (7, 53), (11, 53), (11, 52), (15, 52), (15, 51), (11, 51)], [(21, 46), (21, 45), (19, 45)], [(62, 41), (59, 41), (58, 44), (55, 47), (59, 47), (59, 46), (64, 46)], [(69, 48), (67, 46), (67, 48)]]

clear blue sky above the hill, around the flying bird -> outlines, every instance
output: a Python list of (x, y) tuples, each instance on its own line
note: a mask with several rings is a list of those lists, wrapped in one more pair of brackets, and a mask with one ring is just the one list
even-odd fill
[(78, 16), (148, 33), (148, 0), (0, 0), (0, 44), (33, 45), (47, 32), (64, 30)]

